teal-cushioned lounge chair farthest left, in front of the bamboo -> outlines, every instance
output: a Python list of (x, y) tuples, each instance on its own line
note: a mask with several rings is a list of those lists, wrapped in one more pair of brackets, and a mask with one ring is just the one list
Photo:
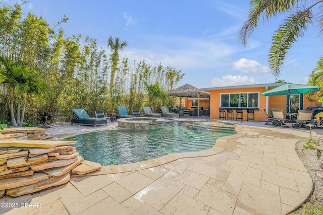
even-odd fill
[(77, 124), (85, 124), (85, 125), (93, 125), (96, 127), (96, 125), (99, 124), (107, 124), (106, 118), (94, 118), (90, 117), (86, 111), (83, 108), (80, 109), (72, 109), (73, 113), (77, 117), (77, 119), (72, 119), (71, 124), (77, 123)]

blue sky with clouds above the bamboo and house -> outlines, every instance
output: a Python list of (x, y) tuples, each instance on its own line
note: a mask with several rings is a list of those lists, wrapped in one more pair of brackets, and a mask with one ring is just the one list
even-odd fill
[[(3, 0), (13, 5), (17, 1)], [(185, 73), (178, 86), (197, 88), (274, 83), (267, 63), (272, 34), (282, 18), (261, 24), (246, 48), (237, 33), (247, 20), (249, 1), (85, 1), (30, 0), (23, 6), (51, 26), (66, 15), (67, 35), (97, 39), (104, 49), (109, 36), (126, 40), (121, 57), (175, 67)], [(315, 26), (314, 26), (315, 27)], [(311, 27), (289, 50), (280, 80), (306, 84), (322, 40)]]

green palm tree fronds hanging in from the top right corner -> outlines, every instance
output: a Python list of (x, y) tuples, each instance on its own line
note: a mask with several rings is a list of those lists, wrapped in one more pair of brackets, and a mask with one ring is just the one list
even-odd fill
[[(323, 32), (323, 1), (298, 1), (298, 0), (252, 0), (250, 1), (249, 19), (243, 23), (239, 32), (239, 40), (243, 46), (259, 22), (268, 22), (281, 14), (288, 14), (278, 30), (274, 33), (272, 45), (268, 54), (270, 68), (275, 77), (280, 75), (281, 67), (286, 59), (289, 48), (304, 35), (307, 27), (317, 24), (320, 36)], [(313, 10), (318, 7), (318, 13)], [(309, 78), (309, 84), (323, 85), (323, 57), (320, 57)], [(317, 73), (316, 73), (317, 72)], [(319, 81), (320, 80), (320, 81)], [(322, 86), (320, 86), (322, 87)], [(316, 93), (320, 99), (323, 91)]]

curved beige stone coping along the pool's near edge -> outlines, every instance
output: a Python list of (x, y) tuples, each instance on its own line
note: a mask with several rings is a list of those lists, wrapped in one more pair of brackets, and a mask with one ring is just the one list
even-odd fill
[[(221, 122), (220, 122), (221, 123)], [(228, 122), (226, 122), (228, 123)], [(229, 135), (229, 136), (223, 136), (216, 140), (216, 143), (214, 146), (210, 149), (198, 151), (198, 152), (185, 152), (185, 153), (173, 153), (170, 155), (165, 155), (159, 158), (147, 160), (147, 161), (141, 161), (136, 163), (130, 163), (130, 164), (119, 164), (119, 165), (108, 165), (108, 166), (102, 166), (102, 168), (98, 171), (84, 174), (84, 175), (73, 175), (76, 177), (83, 177), (83, 176), (96, 176), (96, 175), (105, 175), (105, 174), (115, 174), (115, 173), (124, 173), (124, 172), (131, 172), (131, 171), (138, 171), (143, 169), (148, 169), (152, 167), (157, 167), (160, 165), (164, 165), (179, 159), (184, 158), (202, 158), (202, 157), (208, 157), (212, 155), (217, 155), (219, 153), (224, 152), (226, 149), (232, 150), (237, 144), (232, 141), (230, 144), (228, 144), (228, 141), (231, 139), (243, 137), (246, 134), (242, 133), (242, 127), (243, 125), (238, 125), (234, 123), (228, 123), (235, 125), (236, 134)]]

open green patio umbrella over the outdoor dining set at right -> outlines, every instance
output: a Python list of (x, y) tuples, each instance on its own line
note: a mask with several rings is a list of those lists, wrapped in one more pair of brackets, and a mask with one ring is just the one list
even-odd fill
[(303, 94), (319, 91), (319, 87), (311, 86), (311, 85), (300, 85), (300, 84), (284, 84), (272, 90), (268, 90), (264, 93), (261, 93), (263, 96), (281, 96), (288, 95), (289, 96), (289, 112), (291, 110), (291, 97), (292, 94)]

